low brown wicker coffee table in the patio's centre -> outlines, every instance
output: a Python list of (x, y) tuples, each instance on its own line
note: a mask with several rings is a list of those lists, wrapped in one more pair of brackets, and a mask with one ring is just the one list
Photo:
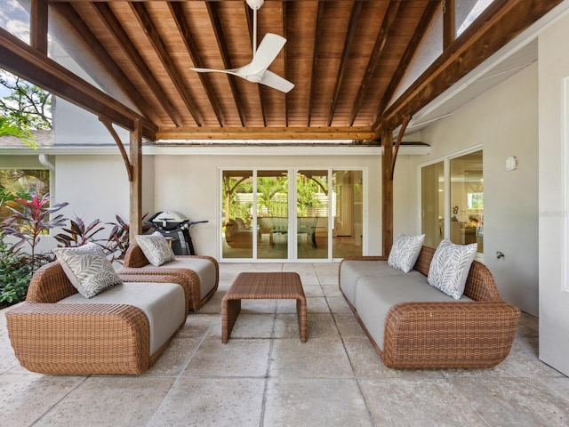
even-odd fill
[(307, 341), (306, 296), (301, 277), (294, 272), (239, 273), (221, 302), (221, 342), (229, 340), (241, 300), (296, 300), (301, 342)]

